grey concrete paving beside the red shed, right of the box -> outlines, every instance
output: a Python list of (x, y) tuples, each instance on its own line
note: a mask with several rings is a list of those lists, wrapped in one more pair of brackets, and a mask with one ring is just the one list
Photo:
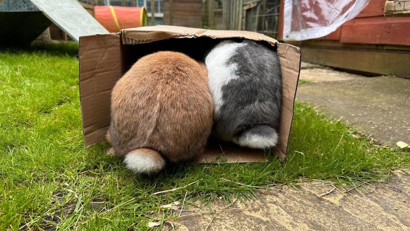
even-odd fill
[[(324, 67), (302, 68), (296, 98), (309, 102), (380, 143), (410, 143), (410, 79), (364, 77)], [(302, 66), (302, 67), (303, 67)]]

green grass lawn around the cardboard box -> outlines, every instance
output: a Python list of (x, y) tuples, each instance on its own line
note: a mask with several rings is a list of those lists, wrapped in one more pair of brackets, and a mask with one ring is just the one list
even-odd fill
[(182, 164), (136, 176), (105, 154), (106, 143), (84, 147), (76, 49), (0, 51), (0, 230), (144, 230), (150, 221), (176, 219), (159, 206), (186, 192), (187, 203), (206, 205), (216, 196), (255, 196), (255, 188), (233, 182), (267, 186), (304, 178), (352, 187), (410, 165), (410, 155), (371, 149), (365, 138), (352, 138), (354, 129), (296, 102), (285, 163), (268, 155), (264, 163)]

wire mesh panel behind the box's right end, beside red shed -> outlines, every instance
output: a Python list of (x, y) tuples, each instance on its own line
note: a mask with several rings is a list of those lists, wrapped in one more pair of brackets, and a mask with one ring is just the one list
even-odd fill
[(252, 0), (244, 3), (242, 29), (278, 38), (280, 0)]

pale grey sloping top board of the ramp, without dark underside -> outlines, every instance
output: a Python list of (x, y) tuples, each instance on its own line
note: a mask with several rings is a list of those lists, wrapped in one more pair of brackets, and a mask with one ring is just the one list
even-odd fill
[(76, 0), (31, 0), (31, 2), (77, 42), (80, 36), (109, 33)]

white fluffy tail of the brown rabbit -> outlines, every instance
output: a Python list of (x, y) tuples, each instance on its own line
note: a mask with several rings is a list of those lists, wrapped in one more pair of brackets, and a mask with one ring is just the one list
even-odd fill
[(156, 173), (165, 166), (161, 154), (148, 148), (128, 152), (125, 155), (124, 163), (134, 173)]

